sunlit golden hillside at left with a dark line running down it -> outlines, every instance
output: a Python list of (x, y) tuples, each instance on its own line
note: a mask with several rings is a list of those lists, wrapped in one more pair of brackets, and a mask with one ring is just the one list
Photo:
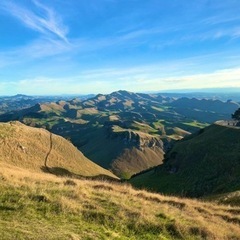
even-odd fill
[(19, 122), (1, 123), (0, 143), (0, 162), (42, 171), (48, 156), (47, 167), (57, 174), (114, 177), (111, 172), (88, 160), (66, 139), (44, 129)]

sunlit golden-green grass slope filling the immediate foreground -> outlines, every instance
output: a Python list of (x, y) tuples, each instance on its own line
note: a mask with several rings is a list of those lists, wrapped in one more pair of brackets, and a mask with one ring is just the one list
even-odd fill
[(240, 208), (0, 164), (1, 239), (239, 239)]

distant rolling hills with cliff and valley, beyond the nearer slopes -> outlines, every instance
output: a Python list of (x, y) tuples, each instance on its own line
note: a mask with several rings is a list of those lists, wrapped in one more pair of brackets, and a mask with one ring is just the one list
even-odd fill
[(129, 178), (161, 164), (164, 152), (175, 140), (213, 120), (228, 119), (238, 107), (231, 101), (193, 101), (117, 91), (84, 101), (36, 104), (3, 114), (0, 121), (19, 120), (47, 128), (70, 140), (98, 165)]

